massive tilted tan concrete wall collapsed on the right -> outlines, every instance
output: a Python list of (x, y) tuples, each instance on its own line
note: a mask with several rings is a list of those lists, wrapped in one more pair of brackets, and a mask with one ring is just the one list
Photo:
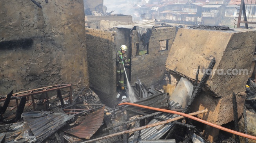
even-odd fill
[(178, 30), (166, 62), (168, 71), (194, 80), (200, 66), (201, 80), (211, 59), (216, 59), (209, 80), (193, 103), (191, 112), (208, 109), (207, 113), (198, 116), (217, 125), (231, 122), (234, 120), (234, 92), (238, 117), (241, 116), (246, 97), (245, 85), (256, 46), (255, 35), (256, 30), (252, 29)]

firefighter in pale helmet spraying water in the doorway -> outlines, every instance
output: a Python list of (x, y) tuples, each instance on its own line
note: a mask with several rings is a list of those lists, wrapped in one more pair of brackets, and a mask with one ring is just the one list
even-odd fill
[[(122, 45), (120, 51), (116, 52), (116, 82), (117, 86), (121, 86), (121, 89), (124, 89), (124, 67), (123, 64), (130, 62), (130, 59), (127, 58), (125, 52), (127, 51), (127, 46)], [(128, 59), (128, 60), (127, 60)]]

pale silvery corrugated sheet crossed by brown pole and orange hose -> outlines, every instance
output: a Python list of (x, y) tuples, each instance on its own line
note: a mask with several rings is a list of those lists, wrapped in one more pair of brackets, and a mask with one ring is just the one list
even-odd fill
[[(171, 107), (176, 107), (179, 104), (175, 103), (174, 101), (169, 102), (169, 105), (171, 105)], [(165, 118), (165, 119), (171, 119), (171, 118), (175, 118), (179, 115), (177, 114), (170, 114), (170, 113), (162, 113), (160, 115), (157, 115), (159, 117)], [(153, 124), (153, 123), (157, 123), (157, 122), (161, 122), (162, 120), (160, 119), (153, 119), (151, 120), (151, 122), (149, 122), (148, 125)], [(140, 138), (139, 140), (145, 140), (145, 139), (160, 139), (164, 134), (166, 134), (168, 132), (168, 130), (171, 129), (171, 127), (174, 125), (174, 123), (167, 123), (164, 125), (164, 127), (162, 127), (160, 130), (157, 129), (157, 127), (151, 127), (151, 128), (147, 128), (147, 129), (143, 129), (141, 130), (141, 134), (140, 134)], [(131, 136), (131, 138), (129, 138), (129, 140), (133, 140), (134, 136)]]

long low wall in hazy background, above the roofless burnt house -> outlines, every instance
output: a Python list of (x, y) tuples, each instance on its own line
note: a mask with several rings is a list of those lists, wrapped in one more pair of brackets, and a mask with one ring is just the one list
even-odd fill
[(85, 16), (85, 20), (109, 20), (120, 22), (133, 22), (131, 15)]

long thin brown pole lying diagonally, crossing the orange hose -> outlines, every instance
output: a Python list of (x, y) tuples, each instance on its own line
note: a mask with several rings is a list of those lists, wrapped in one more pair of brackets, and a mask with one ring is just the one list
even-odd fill
[[(206, 112), (208, 112), (207, 109), (202, 110), (202, 111), (197, 111), (197, 112), (194, 112), (194, 113), (190, 113), (189, 115), (197, 115), (197, 114), (202, 114), (202, 113), (206, 113)], [(150, 125), (145, 125), (145, 126), (138, 127), (138, 128), (135, 128), (135, 129), (125, 130), (125, 131), (122, 131), (122, 132), (118, 132), (118, 133), (115, 133), (115, 134), (110, 134), (108, 136), (103, 136), (103, 137), (96, 138), (96, 139), (91, 139), (89, 141), (83, 141), (83, 142), (80, 142), (80, 143), (92, 143), (92, 142), (99, 141), (99, 140), (102, 140), (102, 139), (107, 139), (107, 138), (112, 138), (114, 136), (127, 134), (129, 132), (135, 132), (137, 130), (143, 130), (143, 129), (147, 129), (147, 128), (150, 128), (150, 127), (156, 127), (158, 125), (167, 124), (167, 123), (170, 123), (170, 122), (173, 122), (173, 121), (176, 121), (176, 120), (180, 120), (182, 118), (184, 118), (184, 117), (183, 116), (178, 116), (176, 118), (172, 118), (172, 119), (165, 120), (165, 121), (162, 121), (162, 122), (157, 122), (157, 123), (153, 123), (153, 124), (150, 124)]]

